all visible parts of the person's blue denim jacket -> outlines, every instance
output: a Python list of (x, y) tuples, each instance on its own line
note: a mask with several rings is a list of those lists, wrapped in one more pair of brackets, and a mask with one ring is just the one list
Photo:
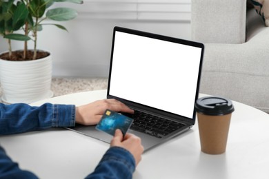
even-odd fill
[[(3, 105), (0, 103), (0, 136), (19, 134), (26, 131), (50, 127), (73, 127), (75, 125), (74, 105), (52, 105), (41, 107), (26, 104)], [(135, 158), (121, 147), (110, 147), (93, 173), (86, 178), (132, 178)], [(0, 146), (0, 178), (37, 178), (30, 171), (19, 169)]]

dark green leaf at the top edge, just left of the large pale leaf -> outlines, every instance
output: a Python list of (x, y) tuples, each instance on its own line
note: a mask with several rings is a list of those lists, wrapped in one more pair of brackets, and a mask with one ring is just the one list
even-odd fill
[(32, 0), (29, 4), (30, 14), (32, 17), (43, 17), (46, 10), (46, 1), (43, 0)]

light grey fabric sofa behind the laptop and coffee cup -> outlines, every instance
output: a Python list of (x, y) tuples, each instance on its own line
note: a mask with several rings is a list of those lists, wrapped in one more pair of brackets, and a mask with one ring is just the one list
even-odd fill
[(200, 92), (269, 113), (269, 27), (246, 0), (192, 0), (192, 40), (205, 44)]

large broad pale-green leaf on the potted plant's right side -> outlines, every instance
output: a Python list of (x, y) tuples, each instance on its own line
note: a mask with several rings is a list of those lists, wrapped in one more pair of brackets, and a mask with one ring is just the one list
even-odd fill
[(70, 8), (54, 8), (48, 10), (46, 17), (54, 21), (68, 21), (77, 17), (77, 11)]

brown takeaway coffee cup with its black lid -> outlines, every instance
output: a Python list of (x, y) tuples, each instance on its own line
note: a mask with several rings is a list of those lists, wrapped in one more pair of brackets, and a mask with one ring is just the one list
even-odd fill
[(227, 98), (208, 96), (195, 103), (201, 151), (206, 154), (223, 154), (226, 151), (230, 118), (235, 111)]

